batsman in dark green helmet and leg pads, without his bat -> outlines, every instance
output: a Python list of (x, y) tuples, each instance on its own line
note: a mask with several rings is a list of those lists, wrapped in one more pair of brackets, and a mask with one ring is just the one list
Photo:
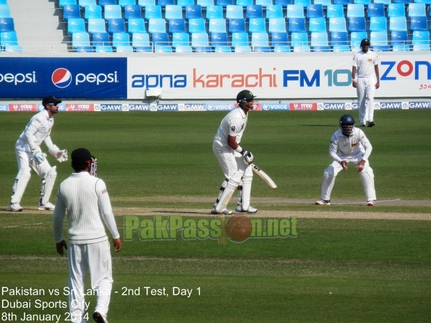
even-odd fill
[(238, 107), (222, 119), (215, 134), (213, 152), (225, 174), (225, 181), (220, 186), (211, 214), (232, 214), (226, 206), (236, 188), (238, 188), (236, 212), (257, 213), (257, 209), (250, 206), (253, 179), (250, 164), (253, 163), (253, 155), (239, 145), (247, 126), (247, 113), (257, 107), (254, 98), (249, 90), (239, 92), (236, 96)]

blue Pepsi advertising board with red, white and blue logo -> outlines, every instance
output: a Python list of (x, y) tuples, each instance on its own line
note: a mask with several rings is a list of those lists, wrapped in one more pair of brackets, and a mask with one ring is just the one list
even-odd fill
[(0, 97), (127, 99), (127, 58), (1, 58)]

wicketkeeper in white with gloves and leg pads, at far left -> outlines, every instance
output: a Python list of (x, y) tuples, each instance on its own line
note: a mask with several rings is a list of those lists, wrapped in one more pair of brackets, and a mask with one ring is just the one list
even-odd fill
[(58, 162), (67, 160), (67, 150), (58, 149), (52, 143), (50, 133), (54, 126), (54, 115), (58, 113), (60, 100), (55, 97), (45, 97), (42, 100), (44, 110), (34, 115), (26, 125), (24, 131), (15, 143), (15, 153), (17, 154), (18, 174), (12, 188), (12, 198), (8, 210), (12, 212), (22, 211), (21, 199), (26, 190), (31, 176), (31, 168), (42, 179), (40, 187), (40, 200), (38, 210), (54, 210), (54, 204), (49, 202), (52, 189), (56, 181), (56, 166), (51, 167), (46, 158), (47, 154), (42, 153), (40, 144), (45, 142), (49, 154), (54, 156)]

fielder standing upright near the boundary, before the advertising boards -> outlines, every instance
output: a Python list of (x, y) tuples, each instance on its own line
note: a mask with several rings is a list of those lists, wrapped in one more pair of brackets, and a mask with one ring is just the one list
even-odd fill
[(361, 126), (375, 126), (374, 93), (380, 88), (379, 60), (370, 45), (368, 39), (361, 40), (361, 51), (352, 60), (352, 86), (357, 92)]

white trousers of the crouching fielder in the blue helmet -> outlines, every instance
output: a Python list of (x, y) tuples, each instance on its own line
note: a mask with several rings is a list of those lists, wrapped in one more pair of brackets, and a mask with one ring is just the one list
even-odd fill
[[(343, 154), (338, 154), (338, 156), (350, 164), (350, 170), (352, 169), (352, 166), (355, 167), (357, 163), (362, 160), (364, 154), (359, 152), (353, 156), (345, 156)], [(353, 169), (357, 171), (356, 168)], [(338, 175), (341, 170), (343, 170), (343, 167), (335, 160), (325, 169), (323, 172), (321, 199), (325, 199), (327, 201), (331, 199), (331, 192), (334, 188), (336, 175)], [(359, 176), (361, 177), (362, 186), (364, 186), (366, 200), (375, 201), (374, 172), (368, 161), (365, 162), (364, 169), (359, 173)]]

